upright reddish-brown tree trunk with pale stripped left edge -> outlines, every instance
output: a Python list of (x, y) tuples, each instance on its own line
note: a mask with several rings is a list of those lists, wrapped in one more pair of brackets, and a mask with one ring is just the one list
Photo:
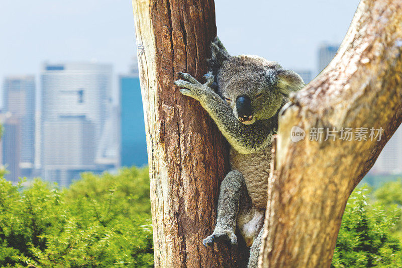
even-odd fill
[(244, 247), (205, 248), (216, 222), (226, 143), (198, 102), (173, 84), (201, 79), (216, 36), (213, 0), (133, 0), (144, 104), (155, 267), (244, 266)]

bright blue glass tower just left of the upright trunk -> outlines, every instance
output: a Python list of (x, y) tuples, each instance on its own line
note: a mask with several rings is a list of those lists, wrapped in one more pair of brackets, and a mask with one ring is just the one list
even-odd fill
[(123, 166), (148, 164), (141, 86), (136, 66), (137, 64), (133, 64), (131, 73), (121, 75), (119, 78), (121, 165)]

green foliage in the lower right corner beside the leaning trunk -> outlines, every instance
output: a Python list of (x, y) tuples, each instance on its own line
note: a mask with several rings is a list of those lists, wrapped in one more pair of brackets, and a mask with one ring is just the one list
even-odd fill
[(380, 200), (369, 205), (368, 192), (357, 189), (347, 202), (332, 267), (402, 267), (402, 247), (393, 231), (401, 210)]

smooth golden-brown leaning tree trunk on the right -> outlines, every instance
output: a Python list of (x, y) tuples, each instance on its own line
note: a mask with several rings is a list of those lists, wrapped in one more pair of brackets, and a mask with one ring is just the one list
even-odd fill
[[(362, 0), (334, 60), (283, 109), (260, 267), (330, 266), (347, 199), (402, 121), (401, 53), (402, 0)], [(293, 126), (304, 140), (291, 141)], [(366, 141), (339, 139), (360, 127)]]

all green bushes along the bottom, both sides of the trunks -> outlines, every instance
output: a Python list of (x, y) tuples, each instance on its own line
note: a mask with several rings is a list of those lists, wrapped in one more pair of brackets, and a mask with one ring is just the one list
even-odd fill
[[(0, 178), (0, 267), (153, 266), (147, 168), (83, 173), (64, 190), (22, 185)], [(334, 268), (402, 267), (402, 182), (368, 193), (348, 200)]]

